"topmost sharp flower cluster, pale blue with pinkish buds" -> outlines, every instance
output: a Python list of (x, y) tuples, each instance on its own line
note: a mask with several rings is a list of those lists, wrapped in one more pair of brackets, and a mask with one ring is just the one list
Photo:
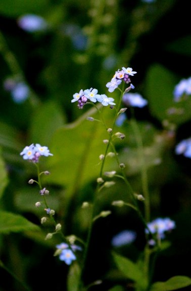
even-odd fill
[[(122, 70), (118, 69), (118, 71), (115, 72), (111, 81), (106, 84), (106, 87), (109, 88), (108, 91), (113, 92), (121, 84), (122, 80), (126, 84), (129, 84), (131, 82), (129, 76), (134, 76), (134, 74), (136, 74), (136, 72), (129, 67), (122, 67)], [(134, 89), (133, 85), (131, 86), (131, 89)]]

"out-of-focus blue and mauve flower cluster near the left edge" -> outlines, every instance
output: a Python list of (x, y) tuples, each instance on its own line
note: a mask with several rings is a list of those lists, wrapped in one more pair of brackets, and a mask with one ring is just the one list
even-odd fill
[(29, 97), (29, 88), (23, 81), (8, 78), (4, 82), (4, 88), (11, 93), (16, 103), (22, 103)]

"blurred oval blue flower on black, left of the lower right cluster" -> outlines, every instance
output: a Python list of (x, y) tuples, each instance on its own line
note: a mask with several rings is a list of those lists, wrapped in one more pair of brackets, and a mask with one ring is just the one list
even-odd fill
[(123, 230), (116, 234), (111, 241), (115, 247), (132, 243), (136, 239), (136, 232), (132, 230)]

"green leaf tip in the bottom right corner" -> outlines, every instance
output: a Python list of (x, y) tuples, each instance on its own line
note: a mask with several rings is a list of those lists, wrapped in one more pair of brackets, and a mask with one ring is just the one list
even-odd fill
[(174, 276), (166, 282), (156, 282), (150, 291), (173, 291), (191, 285), (191, 278), (186, 276)]

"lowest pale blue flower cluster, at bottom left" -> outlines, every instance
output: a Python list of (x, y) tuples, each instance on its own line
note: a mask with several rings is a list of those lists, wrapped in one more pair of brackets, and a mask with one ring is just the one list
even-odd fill
[(69, 245), (65, 242), (56, 245), (57, 249), (60, 250), (59, 259), (64, 261), (67, 265), (71, 265), (72, 261), (76, 260), (76, 256), (73, 252), (81, 251), (81, 247), (75, 244), (71, 244), (71, 249)]

